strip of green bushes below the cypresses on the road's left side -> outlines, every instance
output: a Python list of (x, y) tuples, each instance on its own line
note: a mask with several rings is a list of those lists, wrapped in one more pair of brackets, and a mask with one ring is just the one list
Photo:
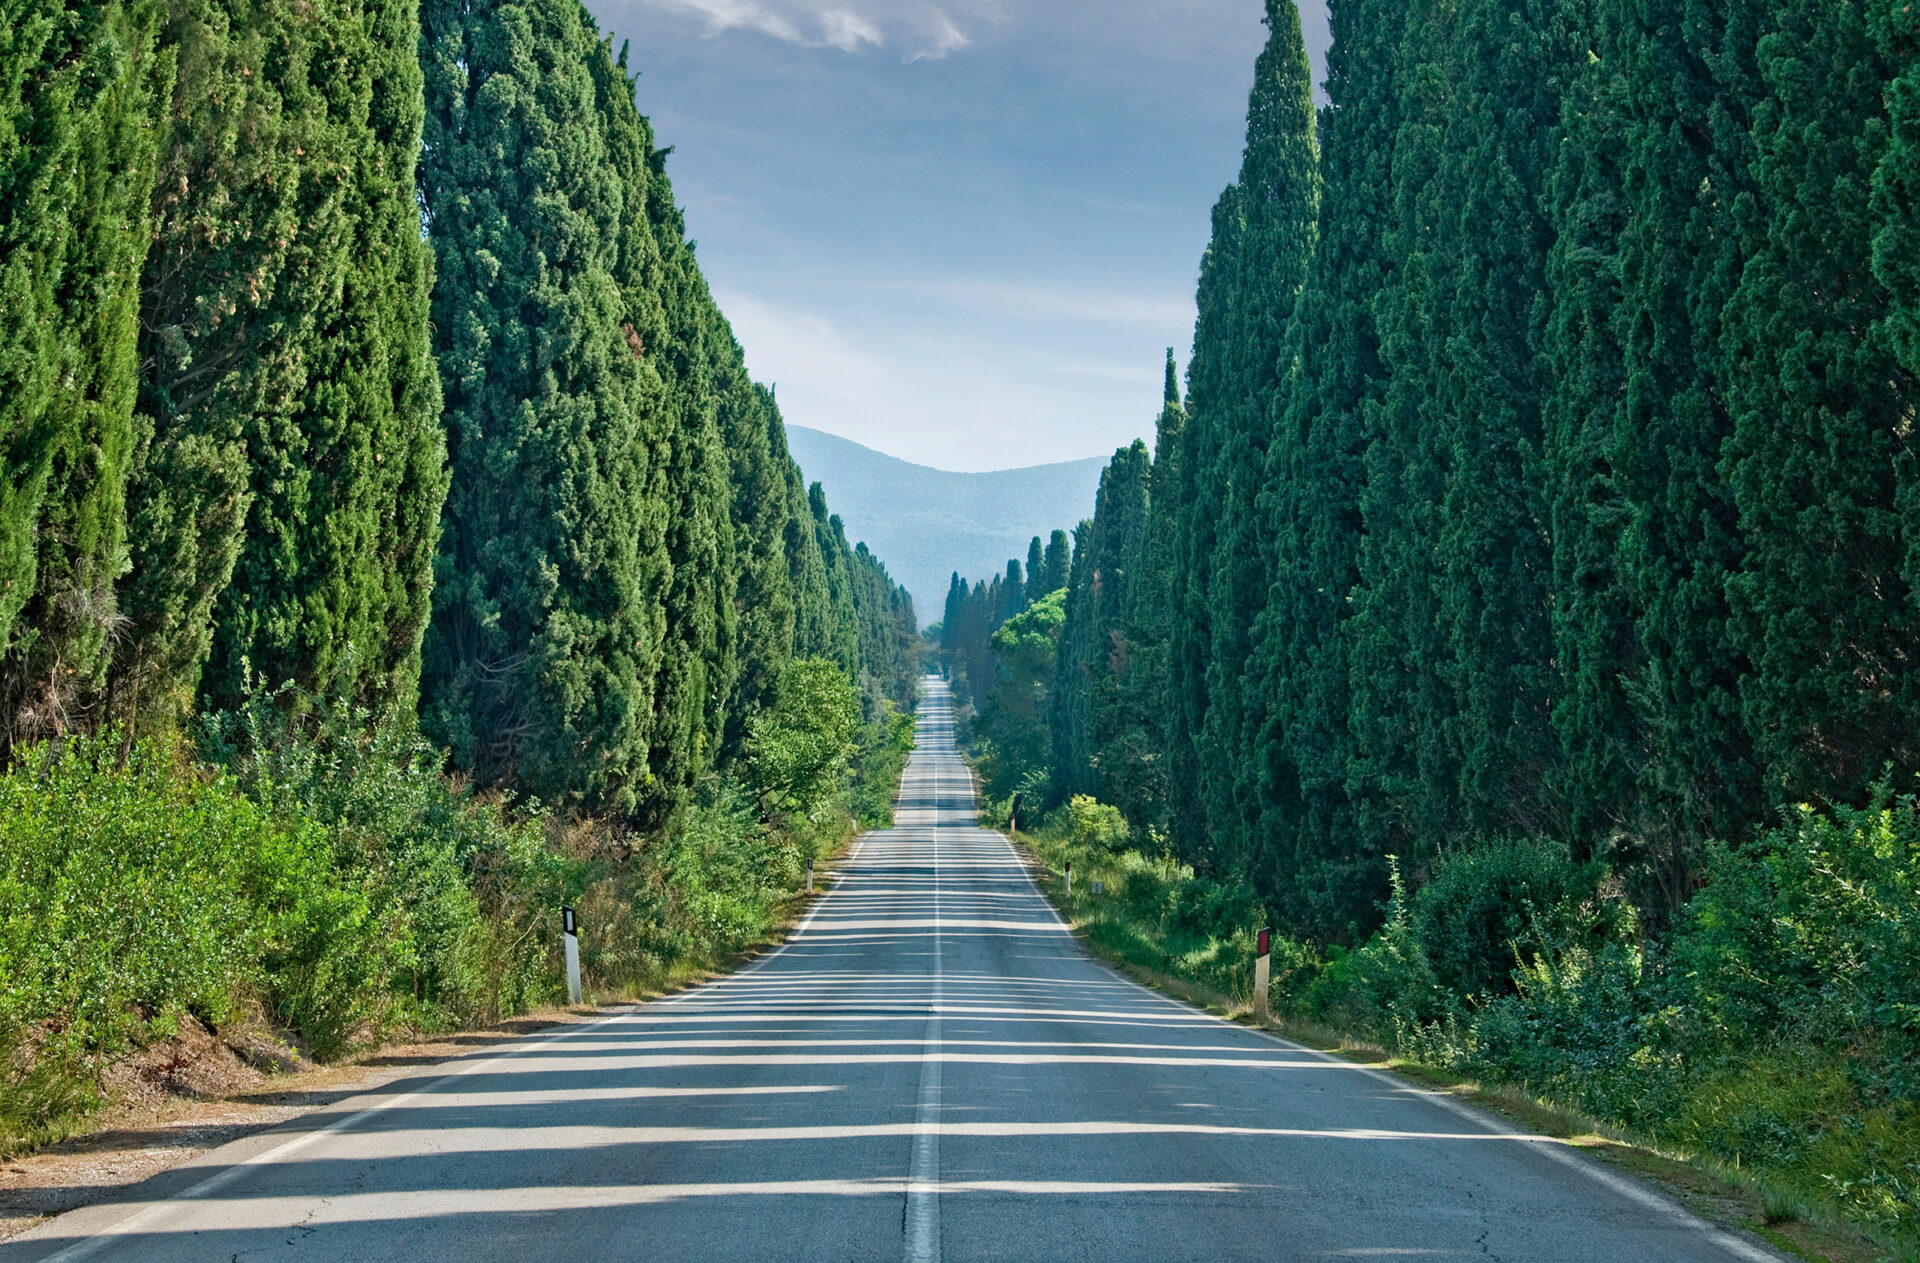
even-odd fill
[[(294, 718), (290, 718), (294, 716)], [(409, 718), (286, 695), (200, 739), (48, 741), (0, 775), (0, 1154), (71, 1134), (102, 1073), (180, 1023), (271, 1025), (332, 1061), (597, 998), (776, 935), (808, 860), (891, 822), (912, 716), (824, 660), (666, 827), (563, 818), (442, 772)]]

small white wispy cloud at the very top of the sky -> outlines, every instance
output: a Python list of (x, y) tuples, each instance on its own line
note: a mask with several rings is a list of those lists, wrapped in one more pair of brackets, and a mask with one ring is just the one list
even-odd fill
[(906, 61), (945, 58), (972, 40), (954, 17), (925, 0), (641, 0), (691, 13), (708, 35), (758, 31), (806, 48), (899, 48)]

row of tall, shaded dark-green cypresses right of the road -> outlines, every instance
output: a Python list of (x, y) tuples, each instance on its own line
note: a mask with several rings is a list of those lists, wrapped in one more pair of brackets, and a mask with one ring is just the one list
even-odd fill
[(1083, 528), (1056, 789), (1302, 933), (1496, 837), (1659, 916), (1920, 770), (1920, 17), (1269, 0), (1188, 395)]

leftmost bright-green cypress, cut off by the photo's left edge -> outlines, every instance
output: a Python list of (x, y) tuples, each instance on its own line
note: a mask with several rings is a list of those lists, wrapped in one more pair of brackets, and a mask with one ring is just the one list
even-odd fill
[(0, 6), (0, 749), (65, 731), (123, 616), (157, 6)]

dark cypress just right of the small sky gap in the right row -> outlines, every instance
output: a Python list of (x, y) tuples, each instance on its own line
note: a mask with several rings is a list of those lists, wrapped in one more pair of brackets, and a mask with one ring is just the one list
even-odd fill
[[(1321, 113), (1321, 226), (1300, 299), (1261, 505), (1279, 549), (1260, 668), (1269, 697), (1260, 735), (1265, 806), (1260, 846), (1271, 898), (1296, 929), (1338, 937), (1367, 921), (1386, 864), (1357, 845), (1346, 781), (1352, 758), (1348, 616), (1359, 582), (1369, 422), (1384, 370), (1375, 296), (1396, 261), (1394, 209), (1402, 6), (1329, 8), (1329, 109)], [(1156, 474), (1158, 476), (1158, 474)]]

